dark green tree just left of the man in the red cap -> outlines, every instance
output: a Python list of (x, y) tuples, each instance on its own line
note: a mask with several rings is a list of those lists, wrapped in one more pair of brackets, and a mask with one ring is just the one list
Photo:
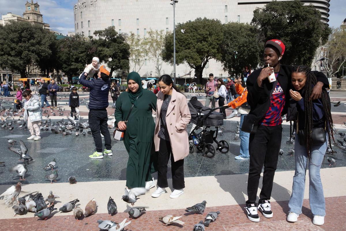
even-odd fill
[[(256, 67), (263, 49), (253, 26), (244, 23), (227, 23), (221, 44), (221, 62), (230, 75), (238, 76), (250, 67)], [(243, 77), (243, 76), (242, 76)]]

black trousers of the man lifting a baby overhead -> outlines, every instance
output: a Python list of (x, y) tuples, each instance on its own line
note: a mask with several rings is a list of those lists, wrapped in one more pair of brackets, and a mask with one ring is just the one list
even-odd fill
[(104, 136), (104, 146), (107, 150), (110, 150), (112, 148), (111, 146), (111, 139), (110, 134), (108, 130), (108, 116), (107, 116), (107, 110), (106, 109), (100, 109), (100, 110), (94, 110), (90, 109), (89, 111), (89, 125), (90, 130), (92, 132), (92, 136), (94, 137), (94, 142), (96, 146), (97, 152), (102, 152), (102, 139), (101, 134)]

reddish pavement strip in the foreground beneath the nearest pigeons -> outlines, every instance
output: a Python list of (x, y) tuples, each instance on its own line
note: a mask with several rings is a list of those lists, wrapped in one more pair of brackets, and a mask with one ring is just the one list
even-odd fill
[[(286, 213), (288, 212), (288, 201), (272, 202), (273, 218), (267, 219), (260, 214), (261, 221), (258, 223), (251, 222), (247, 219), (244, 206), (231, 205), (207, 207), (205, 214), (186, 214), (184, 210), (160, 210), (147, 211), (138, 219), (131, 220), (131, 224), (127, 226), (127, 230), (132, 231), (178, 231), (192, 230), (194, 224), (200, 220), (204, 220), (206, 213), (211, 211), (220, 211), (220, 215), (215, 222), (212, 222), (206, 230), (346, 230), (346, 213), (344, 210), (346, 196), (328, 197), (326, 198), (325, 224), (316, 226), (312, 224), (312, 214), (309, 207), (308, 199), (304, 200), (303, 213), (299, 216), (298, 222), (289, 223), (286, 221)], [(177, 201), (178, 202), (178, 201)], [(208, 205), (208, 204), (207, 204)], [(102, 206), (102, 205), (101, 205)], [(106, 205), (104, 205), (106, 206)], [(58, 207), (58, 206), (57, 206)], [(184, 225), (164, 226), (158, 217), (161, 215), (182, 216), (181, 220)], [(17, 216), (18, 217), (18, 216)], [(20, 216), (19, 216), (20, 217)], [(89, 231), (99, 230), (97, 220), (112, 220), (121, 222), (125, 218), (129, 218), (128, 213), (119, 212), (116, 215), (96, 213), (83, 220), (75, 220), (73, 215), (51, 216), (46, 221), (33, 218), (17, 218), (17, 219), (1, 219), (1, 231), (12, 230), (40, 230), (40, 231)], [(125, 229), (126, 230), (126, 229)]]

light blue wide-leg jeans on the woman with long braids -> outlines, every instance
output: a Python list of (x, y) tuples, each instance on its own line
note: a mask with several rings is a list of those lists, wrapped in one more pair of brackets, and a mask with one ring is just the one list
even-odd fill
[[(326, 215), (326, 203), (321, 183), (320, 168), (328, 146), (324, 144), (311, 147), (311, 160), (309, 160), (309, 203), (313, 215)], [(289, 211), (302, 213), (306, 163), (308, 160), (306, 146), (299, 144), (298, 135), (294, 142), (295, 172), (293, 177), (292, 195), (288, 203)]]

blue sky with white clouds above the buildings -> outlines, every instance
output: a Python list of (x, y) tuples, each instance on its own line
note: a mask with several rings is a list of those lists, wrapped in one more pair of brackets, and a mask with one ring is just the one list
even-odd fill
[[(30, 0), (29, 0), (30, 1)], [(73, 5), (78, 0), (34, 0), (40, 5), (43, 21), (50, 24), (53, 30), (67, 34), (74, 31)], [(7, 12), (22, 16), (26, 0), (0, 0), (0, 14)], [(329, 26), (339, 27), (346, 18), (345, 0), (330, 0)]]

